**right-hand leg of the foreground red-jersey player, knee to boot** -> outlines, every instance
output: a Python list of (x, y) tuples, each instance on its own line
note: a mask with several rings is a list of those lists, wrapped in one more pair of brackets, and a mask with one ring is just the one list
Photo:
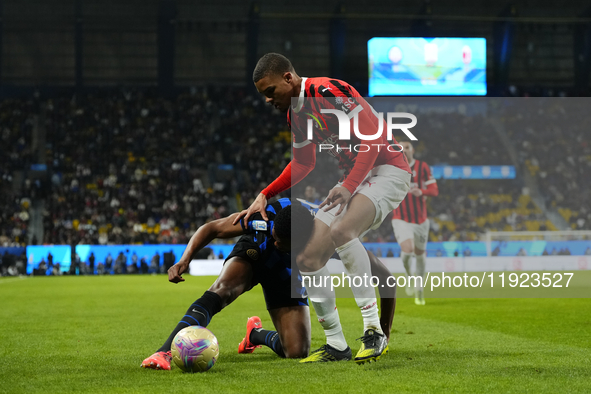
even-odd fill
[[(371, 227), (375, 215), (373, 202), (367, 196), (358, 193), (353, 195), (347, 209), (335, 218), (330, 227), (336, 251), (347, 274), (352, 278), (371, 276), (370, 258), (359, 236)], [(375, 289), (367, 283), (360, 287), (352, 286), (351, 290), (361, 310), (364, 325), (364, 335), (359, 338), (362, 345), (355, 356), (355, 362), (375, 361), (387, 346), (386, 336), (380, 325)]]

